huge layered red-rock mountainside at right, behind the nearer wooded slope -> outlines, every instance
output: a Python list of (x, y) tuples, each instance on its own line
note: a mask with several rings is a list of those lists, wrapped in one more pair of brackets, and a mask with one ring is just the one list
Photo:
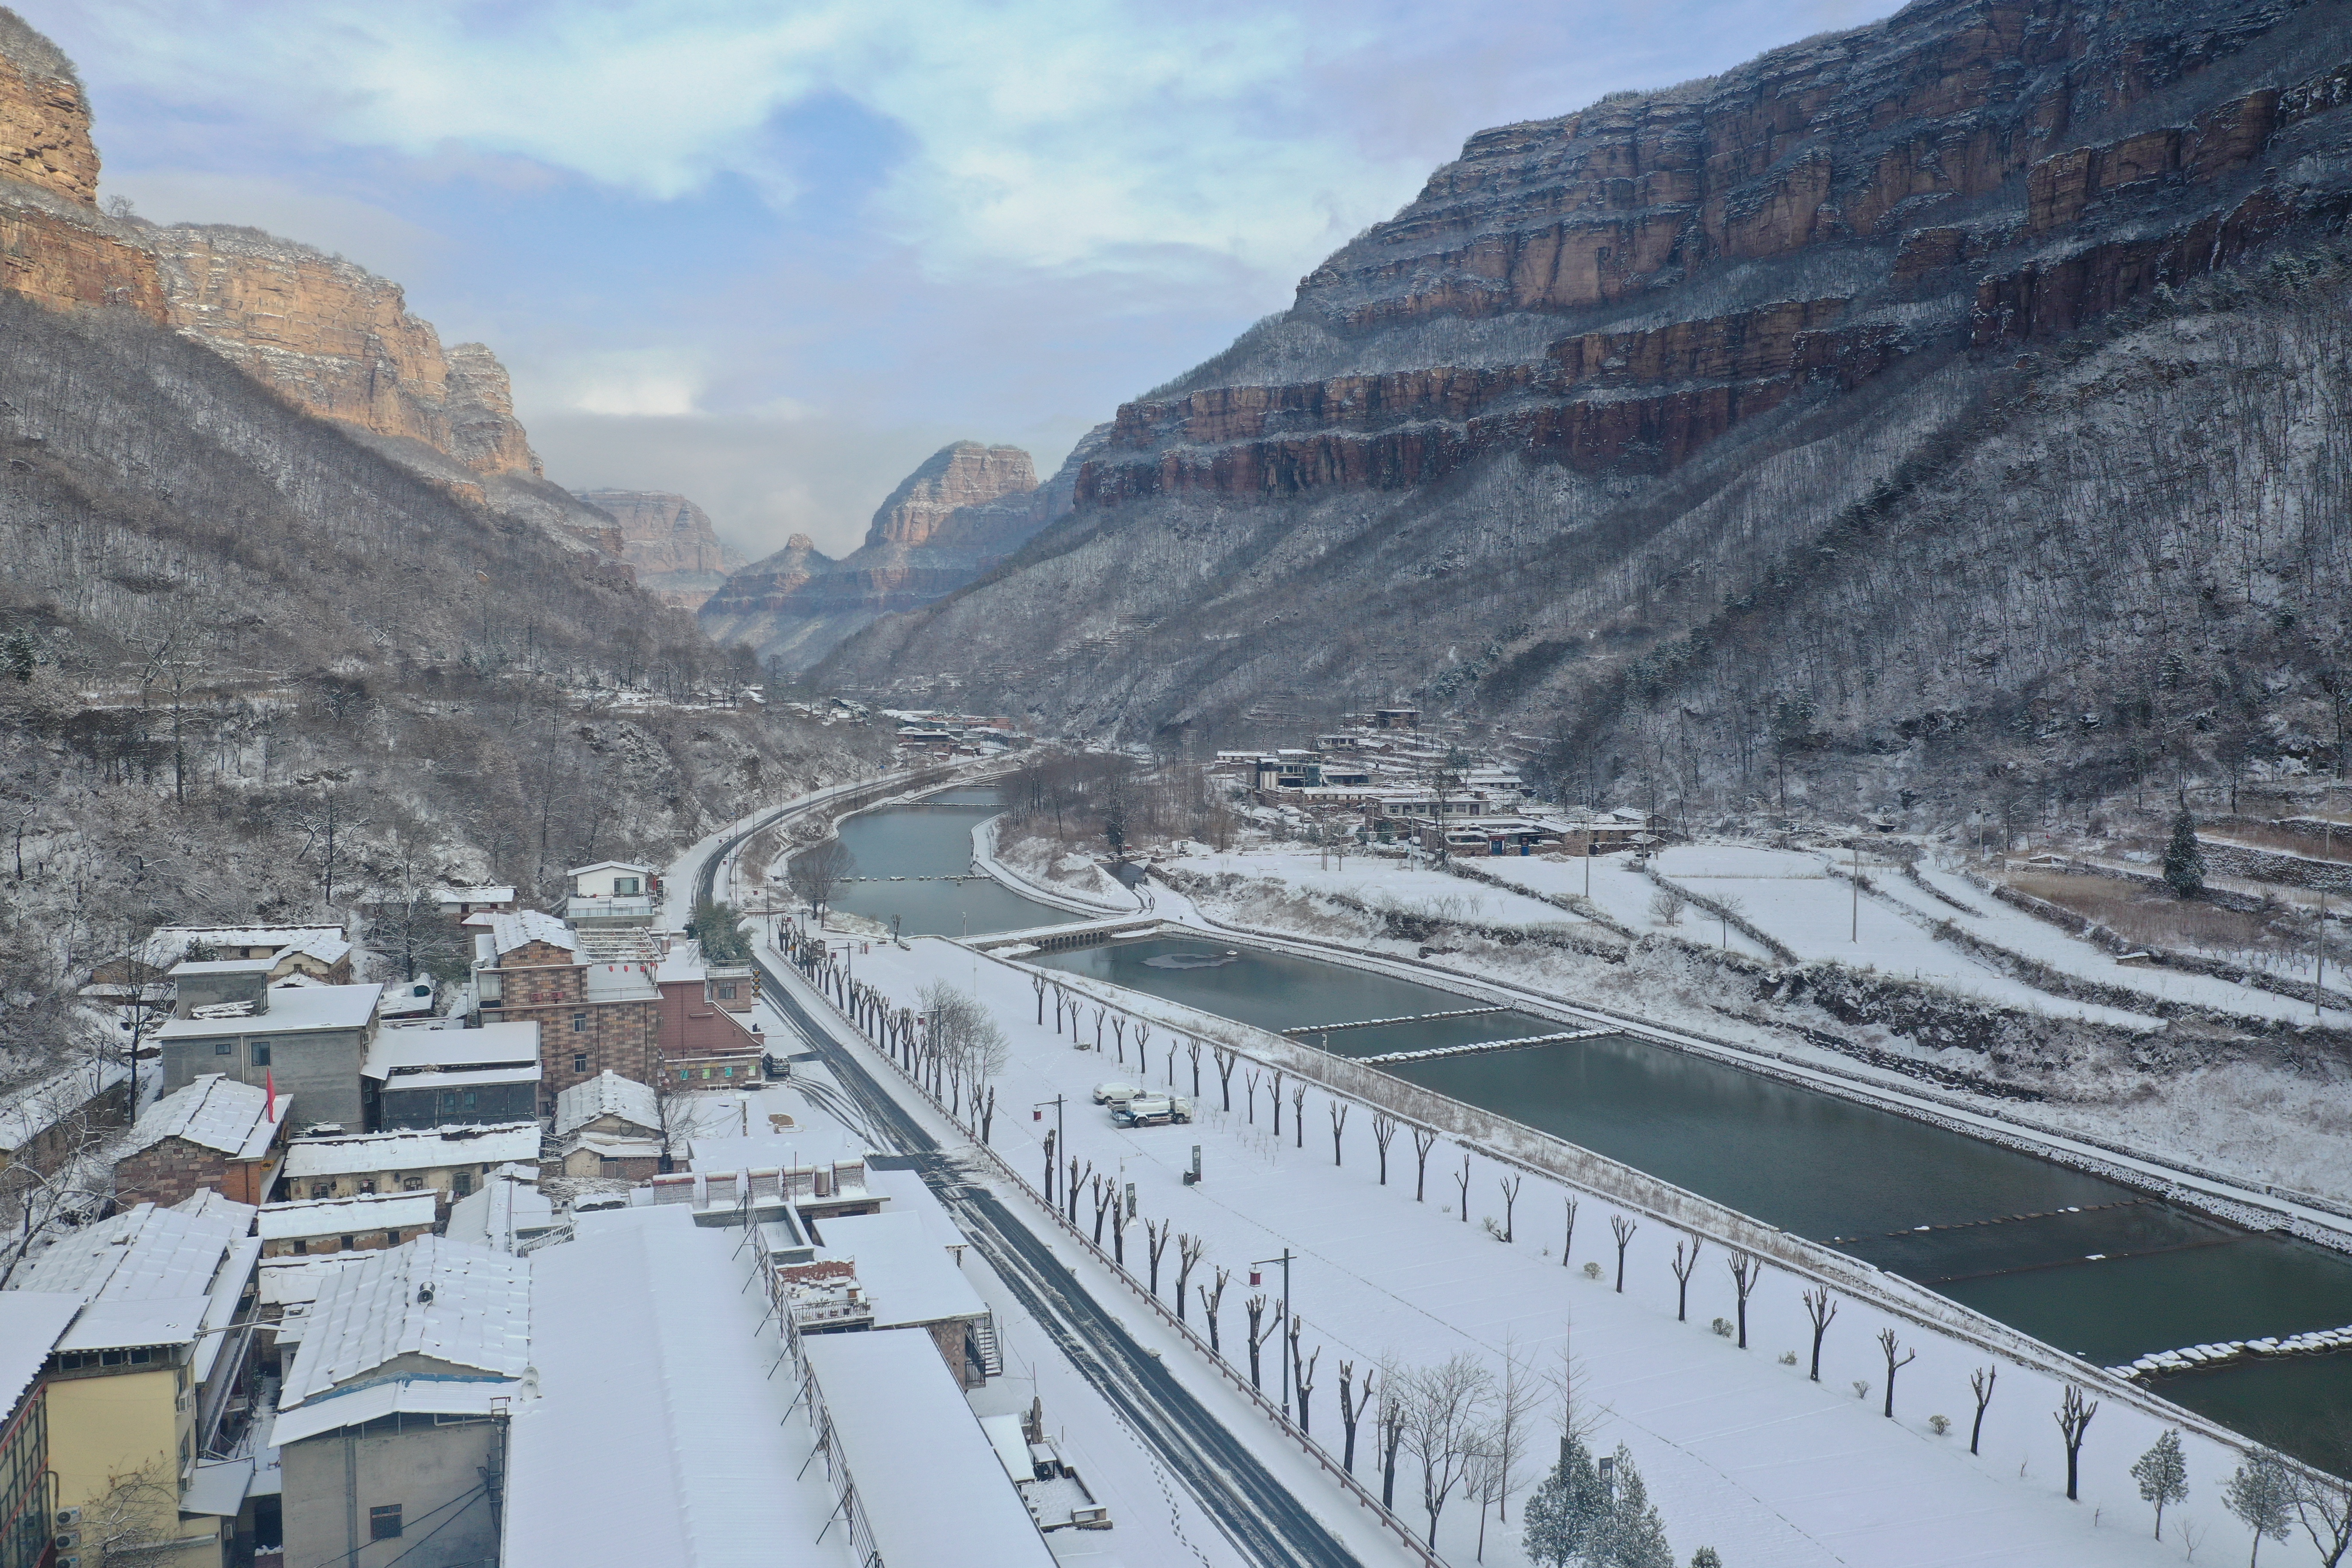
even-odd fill
[(1018, 557), (818, 677), (1127, 736), (1621, 712), (1985, 428), (2020, 355), (2331, 233), (2347, 101), (2343, 5), (1919, 0), (1482, 132), (1122, 407)]

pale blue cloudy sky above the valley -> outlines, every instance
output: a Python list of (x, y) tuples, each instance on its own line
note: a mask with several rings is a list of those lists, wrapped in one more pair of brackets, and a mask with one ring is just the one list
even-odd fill
[(14, 0), (101, 195), (485, 341), (572, 489), (840, 555), (950, 440), (1049, 473), (1489, 125), (1886, 0)]

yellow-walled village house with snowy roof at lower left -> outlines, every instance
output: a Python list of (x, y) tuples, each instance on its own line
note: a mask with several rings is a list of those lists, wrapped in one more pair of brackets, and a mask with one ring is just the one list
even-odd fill
[(80, 1302), (42, 1366), (54, 1507), (127, 1516), (160, 1542), (139, 1561), (216, 1568), (252, 1460), (200, 1462), (238, 1436), (254, 1340), (238, 1328), (261, 1241), (216, 1192), (59, 1237), (12, 1291)]

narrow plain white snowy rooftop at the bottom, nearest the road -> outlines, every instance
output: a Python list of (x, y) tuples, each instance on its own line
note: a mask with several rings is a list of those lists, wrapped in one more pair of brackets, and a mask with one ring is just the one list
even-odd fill
[(931, 1335), (821, 1333), (802, 1349), (884, 1563), (1054, 1568)]

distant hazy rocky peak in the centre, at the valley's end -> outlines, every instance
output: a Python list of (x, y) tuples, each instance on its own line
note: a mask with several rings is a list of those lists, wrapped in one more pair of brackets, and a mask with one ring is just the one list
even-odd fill
[(703, 602), (703, 630), (807, 668), (880, 616), (978, 578), (1068, 510), (1073, 484), (1040, 489), (1018, 447), (953, 442), (882, 501), (858, 550), (835, 562), (795, 534)]

